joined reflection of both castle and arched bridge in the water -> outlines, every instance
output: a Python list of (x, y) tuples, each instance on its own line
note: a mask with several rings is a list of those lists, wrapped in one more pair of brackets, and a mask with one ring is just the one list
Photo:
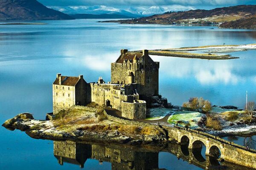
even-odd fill
[[(247, 167), (232, 164), (226, 161), (218, 161), (220, 157), (219, 150), (212, 148), (212, 156), (204, 156), (201, 153), (204, 145), (200, 142), (195, 143), (193, 149), (189, 149), (187, 141), (183, 143), (168, 144), (164, 147), (136, 147), (118, 144), (84, 144), (70, 141), (54, 142), (54, 156), (58, 163), (78, 164), (84, 167), (87, 159), (99, 160), (102, 162), (111, 162), (112, 170), (157, 170), (159, 167), (158, 156), (161, 152), (169, 152), (177, 156), (177, 159), (194, 164), (207, 170), (251, 170)], [(170, 159), (170, 162), (173, 161)], [(170, 166), (170, 169), (172, 167)]]

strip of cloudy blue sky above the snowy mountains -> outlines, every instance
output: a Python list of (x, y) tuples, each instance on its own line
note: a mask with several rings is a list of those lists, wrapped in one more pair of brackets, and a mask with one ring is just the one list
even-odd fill
[(45, 6), (193, 6), (198, 9), (212, 9), (223, 6), (256, 5), (256, 0), (38, 0)]

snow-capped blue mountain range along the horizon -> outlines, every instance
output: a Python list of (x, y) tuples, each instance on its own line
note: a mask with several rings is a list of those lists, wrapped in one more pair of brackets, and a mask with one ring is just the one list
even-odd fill
[(111, 6), (49, 6), (55, 10), (67, 14), (119, 14), (129, 17), (145, 17), (154, 14), (163, 14), (169, 11), (188, 11), (194, 10), (192, 6), (151, 6), (151, 7), (130, 7), (130, 8), (115, 8)]

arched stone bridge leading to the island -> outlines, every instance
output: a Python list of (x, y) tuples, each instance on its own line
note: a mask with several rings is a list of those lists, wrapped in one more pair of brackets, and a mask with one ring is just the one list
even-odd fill
[[(198, 130), (186, 129), (183, 127), (163, 126), (168, 131), (170, 139), (175, 139), (178, 144), (183, 146), (183, 151), (186, 153), (186, 148), (192, 150), (194, 157), (199, 164), (207, 161), (201, 156), (202, 147), (206, 147), (206, 156), (218, 158), (219, 160), (228, 161), (234, 164), (256, 168), (256, 150), (247, 149), (233, 142), (221, 139), (217, 136), (212, 136)], [(182, 148), (182, 147), (181, 147)], [(200, 154), (198, 154), (200, 153)], [(184, 155), (184, 154), (183, 154)], [(189, 156), (189, 158), (193, 158)], [(201, 164), (205, 166), (206, 164)]]

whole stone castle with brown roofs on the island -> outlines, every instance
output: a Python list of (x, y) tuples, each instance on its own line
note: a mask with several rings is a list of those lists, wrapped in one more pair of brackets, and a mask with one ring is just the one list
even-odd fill
[(102, 77), (87, 83), (84, 77), (57, 74), (53, 82), (53, 114), (73, 105), (98, 105), (121, 111), (128, 119), (145, 119), (146, 101), (158, 96), (159, 62), (148, 56), (148, 50), (129, 52), (121, 50), (116, 62), (111, 63), (111, 82)]

